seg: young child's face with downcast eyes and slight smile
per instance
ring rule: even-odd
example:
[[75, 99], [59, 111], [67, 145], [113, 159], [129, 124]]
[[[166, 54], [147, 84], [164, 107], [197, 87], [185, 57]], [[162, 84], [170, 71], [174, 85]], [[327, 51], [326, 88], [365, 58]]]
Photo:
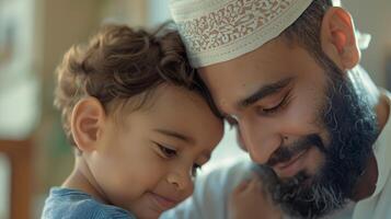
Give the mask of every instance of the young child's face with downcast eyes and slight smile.
[[158, 218], [193, 193], [192, 172], [209, 160], [222, 123], [194, 92], [158, 88], [149, 108], [106, 117], [88, 155], [103, 198], [139, 218]]

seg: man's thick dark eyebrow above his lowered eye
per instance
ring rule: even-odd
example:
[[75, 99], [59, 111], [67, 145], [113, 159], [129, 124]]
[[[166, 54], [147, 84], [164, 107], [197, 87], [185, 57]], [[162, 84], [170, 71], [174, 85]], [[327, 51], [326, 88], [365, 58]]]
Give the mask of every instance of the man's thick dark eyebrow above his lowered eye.
[[279, 80], [275, 83], [266, 84], [266, 85], [260, 88], [255, 93], [251, 94], [249, 97], [240, 101], [238, 103], [238, 106], [240, 108], [246, 107], [246, 106], [252, 105], [255, 102], [257, 102], [268, 95], [275, 94], [278, 91], [280, 91], [281, 89], [284, 89], [285, 87], [287, 87], [292, 80], [294, 80], [294, 78], [290, 77], [290, 78]]

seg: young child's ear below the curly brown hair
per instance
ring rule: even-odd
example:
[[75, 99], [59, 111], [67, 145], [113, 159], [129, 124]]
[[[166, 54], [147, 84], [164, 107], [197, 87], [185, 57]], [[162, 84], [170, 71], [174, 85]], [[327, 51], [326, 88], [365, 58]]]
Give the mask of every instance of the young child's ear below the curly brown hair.
[[101, 102], [94, 97], [79, 101], [71, 115], [71, 131], [74, 142], [81, 151], [92, 151], [101, 137], [105, 111]]

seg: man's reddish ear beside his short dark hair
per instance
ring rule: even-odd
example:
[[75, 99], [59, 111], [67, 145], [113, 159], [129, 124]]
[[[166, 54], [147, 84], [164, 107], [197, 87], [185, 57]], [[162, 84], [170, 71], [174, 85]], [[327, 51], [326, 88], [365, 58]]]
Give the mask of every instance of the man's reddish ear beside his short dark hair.
[[360, 59], [350, 14], [338, 7], [330, 8], [321, 27], [323, 51], [343, 70], [354, 68]]

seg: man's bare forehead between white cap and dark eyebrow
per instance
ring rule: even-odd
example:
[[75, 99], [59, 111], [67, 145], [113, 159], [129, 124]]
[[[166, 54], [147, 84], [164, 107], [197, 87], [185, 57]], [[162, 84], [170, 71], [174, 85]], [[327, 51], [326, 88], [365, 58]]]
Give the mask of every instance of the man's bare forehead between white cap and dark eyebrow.
[[294, 49], [286, 47], [284, 51], [280, 51], [276, 49], [277, 47], [269, 49], [265, 45], [235, 59], [199, 68], [198, 73], [211, 92], [218, 92], [221, 89], [222, 91], [257, 89], [291, 74], [296, 59], [302, 61], [301, 55]]

